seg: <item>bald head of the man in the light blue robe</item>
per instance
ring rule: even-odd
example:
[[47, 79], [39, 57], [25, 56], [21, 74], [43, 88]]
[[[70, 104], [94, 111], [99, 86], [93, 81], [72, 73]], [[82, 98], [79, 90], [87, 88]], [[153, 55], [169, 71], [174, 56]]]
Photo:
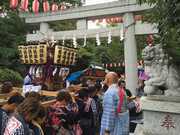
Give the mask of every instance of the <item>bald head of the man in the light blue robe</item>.
[[108, 86], [118, 83], [118, 75], [115, 72], [107, 73], [105, 76], [104, 83], [107, 84]]

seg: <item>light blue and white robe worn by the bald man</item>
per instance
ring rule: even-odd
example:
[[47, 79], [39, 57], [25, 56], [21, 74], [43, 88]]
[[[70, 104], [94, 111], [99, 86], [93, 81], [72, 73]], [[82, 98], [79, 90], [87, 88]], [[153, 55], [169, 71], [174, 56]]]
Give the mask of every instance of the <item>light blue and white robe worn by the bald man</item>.
[[[104, 135], [105, 130], [110, 131], [110, 135], [129, 134], [129, 112], [125, 111], [117, 114], [119, 102], [118, 91], [119, 87], [113, 84], [104, 94], [100, 135]], [[127, 107], [126, 98], [124, 99], [122, 108]]]

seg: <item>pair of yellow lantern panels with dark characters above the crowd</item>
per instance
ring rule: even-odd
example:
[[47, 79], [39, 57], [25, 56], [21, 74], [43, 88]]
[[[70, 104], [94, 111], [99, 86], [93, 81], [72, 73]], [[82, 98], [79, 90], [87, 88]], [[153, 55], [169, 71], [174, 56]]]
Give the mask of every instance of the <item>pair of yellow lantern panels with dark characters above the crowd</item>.
[[[54, 50], [53, 62], [60, 65], [75, 64], [77, 59], [77, 49], [65, 46], [58, 46], [51, 48]], [[23, 64], [46, 64], [48, 60], [48, 45], [28, 45], [18, 46], [19, 56]]]

